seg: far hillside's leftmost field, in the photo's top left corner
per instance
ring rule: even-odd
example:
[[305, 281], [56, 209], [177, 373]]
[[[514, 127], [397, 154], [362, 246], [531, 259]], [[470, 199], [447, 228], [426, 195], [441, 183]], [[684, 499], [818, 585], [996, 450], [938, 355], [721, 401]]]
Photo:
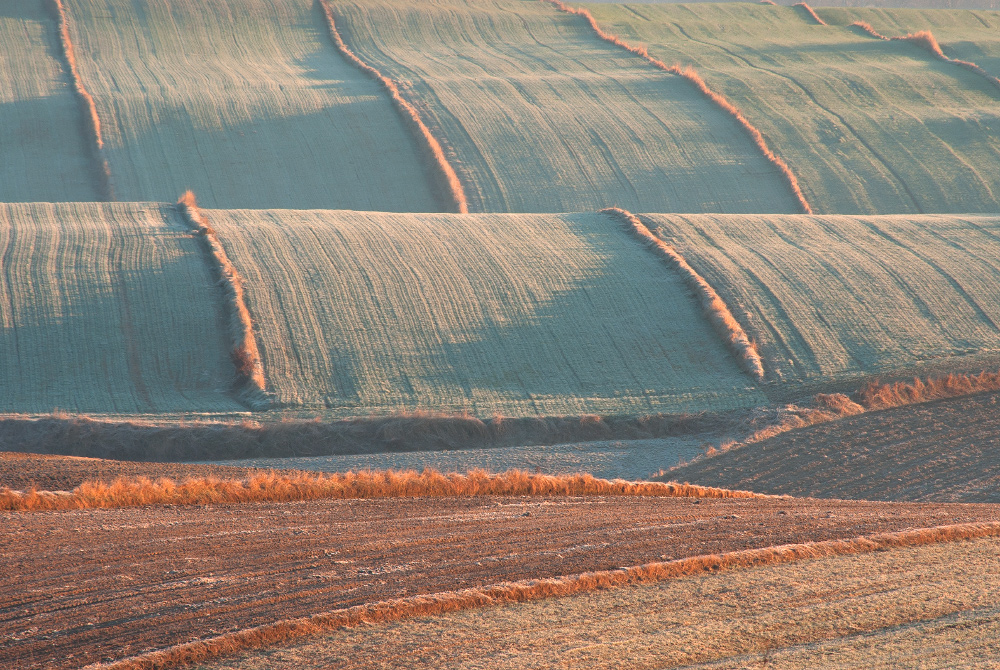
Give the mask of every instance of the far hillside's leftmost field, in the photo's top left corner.
[[0, 201], [98, 200], [91, 148], [44, 0], [0, 0]]

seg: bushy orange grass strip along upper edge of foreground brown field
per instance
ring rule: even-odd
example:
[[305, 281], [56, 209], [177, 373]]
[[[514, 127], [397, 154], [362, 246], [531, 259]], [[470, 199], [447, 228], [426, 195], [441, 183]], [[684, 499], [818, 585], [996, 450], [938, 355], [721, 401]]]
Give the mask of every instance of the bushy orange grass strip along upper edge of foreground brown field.
[[442, 474], [436, 470], [382, 470], [345, 473], [263, 473], [247, 479], [189, 478], [182, 481], [146, 477], [117, 479], [108, 484], [87, 481], [72, 491], [0, 489], [0, 510], [43, 511], [208, 505], [246, 502], [416, 496], [471, 497], [512, 495], [603, 495], [669, 498], [770, 498], [749, 491], [730, 491], [676, 482], [629, 482], [597, 479], [589, 474], [543, 475], [511, 470], [489, 474]]

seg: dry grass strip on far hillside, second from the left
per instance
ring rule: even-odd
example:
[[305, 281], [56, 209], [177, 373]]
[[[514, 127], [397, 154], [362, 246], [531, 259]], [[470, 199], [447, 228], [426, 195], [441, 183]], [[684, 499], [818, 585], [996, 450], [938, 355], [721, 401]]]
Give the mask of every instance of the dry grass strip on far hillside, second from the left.
[[424, 148], [428, 154], [428, 161], [433, 166], [435, 174], [439, 175], [438, 189], [442, 197], [449, 201], [447, 203], [448, 209], [459, 214], [468, 214], [469, 204], [465, 198], [465, 190], [462, 188], [462, 182], [459, 181], [455, 168], [451, 166], [448, 158], [444, 155], [441, 143], [438, 142], [437, 138], [431, 133], [430, 128], [427, 127], [427, 124], [420, 118], [417, 108], [402, 96], [396, 82], [361, 60], [357, 54], [351, 51], [350, 47], [347, 46], [344, 39], [340, 36], [340, 31], [337, 30], [337, 22], [329, 0], [319, 0], [319, 4], [323, 8], [323, 15], [326, 17], [327, 27], [330, 30], [330, 39], [333, 40], [334, 45], [340, 53], [352, 65], [382, 84], [382, 87], [389, 94], [392, 104], [399, 111], [403, 122], [423, 141]]

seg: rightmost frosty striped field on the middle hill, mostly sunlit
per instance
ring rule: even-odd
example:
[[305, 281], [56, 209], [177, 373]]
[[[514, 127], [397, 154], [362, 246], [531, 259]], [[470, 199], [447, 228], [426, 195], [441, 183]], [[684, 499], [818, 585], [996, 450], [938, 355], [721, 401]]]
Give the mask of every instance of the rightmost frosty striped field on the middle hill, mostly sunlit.
[[640, 218], [716, 288], [771, 378], [1000, 350], [998, 218]]

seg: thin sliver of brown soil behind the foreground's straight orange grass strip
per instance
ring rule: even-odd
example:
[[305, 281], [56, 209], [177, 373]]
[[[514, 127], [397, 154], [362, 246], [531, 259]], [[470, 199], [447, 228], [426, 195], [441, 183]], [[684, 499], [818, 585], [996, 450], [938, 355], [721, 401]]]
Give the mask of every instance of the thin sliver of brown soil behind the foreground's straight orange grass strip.
[[119, 477], [184, 479], [186, 477], [243, 478], [264, 472], [253, 468], [192, 463], [140, 463], [103, 458], [47, 456], [0, 451], [0, 488], [71, 491], [84, 481], [113, 482]]

